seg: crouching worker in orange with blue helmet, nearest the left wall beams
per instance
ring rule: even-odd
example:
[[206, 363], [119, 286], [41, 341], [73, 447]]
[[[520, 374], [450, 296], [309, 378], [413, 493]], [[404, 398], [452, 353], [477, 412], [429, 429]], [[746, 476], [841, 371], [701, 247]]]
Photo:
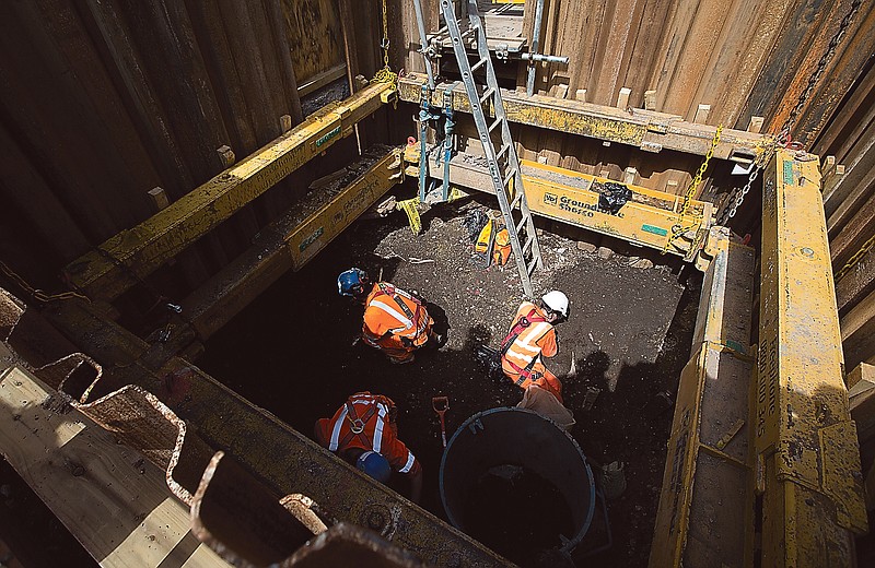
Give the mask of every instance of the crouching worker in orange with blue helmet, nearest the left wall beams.
[[364, 304], [362, 340], [381, 350], [392, 363], [412, 363], [413, 351], [430, 340], [438, 346], [442, 338], [433, 330], [434, 320], [417, 296], [388, 282], [371, 284], [361, 269], [349, 269], [337, 277], [337, 291]]

